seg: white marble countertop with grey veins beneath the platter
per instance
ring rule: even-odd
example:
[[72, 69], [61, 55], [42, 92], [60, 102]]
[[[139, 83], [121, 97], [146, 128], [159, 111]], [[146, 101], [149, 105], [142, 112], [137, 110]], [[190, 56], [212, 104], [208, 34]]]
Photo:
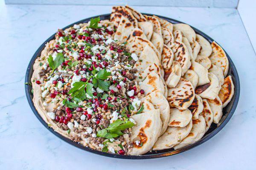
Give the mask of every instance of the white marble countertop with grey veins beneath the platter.
[[0, 169], [254, 169], [256, 56], [236, 9], [136, 7], [186, 22], [221, 44], [239, 73], [241, 96], [230, 122], [200, 146], [175, 156], [122, 160], [87, 153], [58, 139], [35, 117], [24, 76], [36, 49], [58, 28], [111, 6], [2, 5], [0, 8]]

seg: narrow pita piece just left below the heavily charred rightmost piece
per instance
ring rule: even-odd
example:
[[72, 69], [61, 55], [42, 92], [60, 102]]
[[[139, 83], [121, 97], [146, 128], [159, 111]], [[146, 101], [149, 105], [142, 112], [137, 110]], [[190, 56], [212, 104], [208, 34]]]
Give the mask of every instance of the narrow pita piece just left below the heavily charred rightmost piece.
[[213, 114], [213, 122], [217, 124], [220, 121], [222, 116], [221, 99], [217, 96], [214, 100], [207, 99], [207, 102]]

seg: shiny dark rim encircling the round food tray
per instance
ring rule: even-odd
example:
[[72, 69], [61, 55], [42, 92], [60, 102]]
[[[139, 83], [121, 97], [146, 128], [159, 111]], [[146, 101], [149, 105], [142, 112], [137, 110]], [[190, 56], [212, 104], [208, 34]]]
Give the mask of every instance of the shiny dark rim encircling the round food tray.
[[[146, 14], [146, 13], [142, 13], [142, 14]], [[146, 14], [146, 15], [156, 15], [156, 14]], [[172, 18], [169, 18], [169, 17], [164, 17], [164, 16], [160, 16], [160, 15], [156, 15], [157, 17], [160, 17], [160, 18], [163, 18], [165, 20], [168, 20], [169, 22], [171, 23], [183, 23], [183, 22], [180, 22], [178, 20], [175, 20], [175, 19], [172, 19]], [[101, 15], [97, 15], [97, 16], [93, 16], [93, 17], [88, 17], [86, 19], [83, 19], [83, 20], [79, 20], [75, 23], [72, 23], [66, 27], [63, 28], [66, 29], [66, 28], [69, 28], [70, 26], [73, 26], [74, 24], [79, 24], [79, 23], [83, 23], [85, 21], [89, 21], [91, 18], [95, 18], [95, 17], [101, 17], [101, 20], [102, 20], [102, 17], [110, 17], [110, 14], [101, 14]], [[188, 24], [189, 25], [189, 24]], [[190, 26], [190, 25], [189, 25]], [[194, 28], [193, 26], [191, 26], [191, 28], [193, 28], [195, 30], [195, 32], [197, 34], [200, 34], [202, 35], [204, 38], [206, 38], [209, 42], [213, 42], [214, 40], [209, 37], [207, 34], [205, 34], [204, 32], [198, 30], [197, 28]], [[211, 139], [213, 136], [215, 136], [221, 129], [223, 129], [223, 127], [227, 124], [227, 122], [229, 122], [229, 120], [231, 119], [231, 117], [233, 116], [235, 110], [236, 110], [236, 107], [238, 105], [238, 102], [239, 102], [239, 95], [240, 95], [240, 81], [239, 81], [239, 75], [237, 73], [237, 70], [236, 70], [236, 67], [233, 63], [233, 61], [231, 60], [231, 58], [229, 57], [229, 55], [227, 54], [227, 52], [225, 51], [226, 55], [227, 55], [227, 58], [229, 60], [229, 73], [230, 73], [230, 70], [232, 69], [233, 71], [233, 79], [235, 79], [234, 82], [234, 86], [235, 86], [235, 93], [234, 93], [234, 96], [233, 96], [233, 105], [231, 106], [231, 109], [230, 109], [230, 112], [229, 113], [226, 113], [226, 118], [224, 119], [224, 121], [218, 126], [216, 127], [211, 133], [208, 133], [207, 135], [203, 136], [202, 139], [198, 140], [197, 142], [193, 143], [193, 144], [189, 144], [187, 145], [186, 147], [183, 147], [183, 148], [180, 148], [178, 150], [170, 150], [170, 151], [166, 151], [164, 153], [155, 153], [155, 154], [148, 154], [148, 155], [138, 155], [138, 156], [130, 156], [130, 155], [118, 155], [118, 154], [111, 154], [111, 153], [105, 153], [105, 152], [101, 152], [101, 151], [98, 151], [98, 150], [93, 150], [93, 149], [90, 149], [89, 147], [84, 147], [76, 142], [73, 142], [72, 140], [62, 136], [61, 134], [55, 132], [52, 128], [48, 127], [48, 124], [46, 122], [44, 122], [44, 120], [42, 119], [42, 117], [39, 115], [38, 111], [36, 110], [33, 102], [32, 102], [32, 95], [30, 93], [30, 85], [27, 84], [26, 82], [30, 82], [30, 79], [31, 79], [31, 75], [32, 75], [32, 72], [33, 72], [33, 69], [32, 69], [32, 66], [35, 62], [35, 59], [41, 54], [41, 51], [44, 49], [44, 46], [47, 42], [49, 42], [50, 40], [52, 40], [54, 38], [55, 34], [53, 34], [52, 36], [50, 36], [47, 40], [45, 40], [43, 42], [42, 45], [40, 45], [40, 47], [35, 51], [35, 54], [33, 55], [33, 57], [31, 58], [30, 62], [29, 62], [29, 65], [27, 67], [27, 70], [26, 70], [26, 76], [25, 76], [25, 92], [26, 92], [26, 98], [29, 102], [29, 106], [30, 108], [32, 109], [33, 113], [35, 114], [35, 116], [38, 118], [38, 120], [45, 126], [47, 127], [47, 129], [53, 133], [55, 136], [57, 136], [58, 138], [64, 140], [65, 142], [67, 142], [68, 144], [71, 144], [75, 147], [78, 147], [82, 150], [85, 150], [87, 152], [90, 152], [90, 153], [95, 153], [95, 154], [98, 154], [98, 155], [101, 155], [101, 156], [107, 156], [107, 157], [112, 157], [112, 158], [119, 158], [119, 159], [154, 159], [154, 158], [160, 158], [160, 157], [166, 157], [166, 156], [171, 156], [171, 155], [175, 155], [175, 154], [178, 154], [178, 153], [183, 153], [187, 150], [190, 150], [194, 147], [197, 147], [199, 146], [200, 144], [203, 144], [204, 142], [208, 141], [209, 139]], [[221, 45], [220, 45], [221, 46]], [[221, 47], [222, 48], [222, 47]], [[224, 49], [224, 48], [223, 48]]]

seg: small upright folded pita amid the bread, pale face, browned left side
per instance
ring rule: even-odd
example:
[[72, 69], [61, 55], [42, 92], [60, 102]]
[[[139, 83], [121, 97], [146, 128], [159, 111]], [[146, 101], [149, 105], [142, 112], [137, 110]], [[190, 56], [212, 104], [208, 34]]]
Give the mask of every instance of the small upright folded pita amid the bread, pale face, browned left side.
[[164, 70], [164, 80], [167, 87], [175, 88], [175, 86], [180, 81], [181, 71], [180, 63], [177, 61], [173, 61], [171, 68]]

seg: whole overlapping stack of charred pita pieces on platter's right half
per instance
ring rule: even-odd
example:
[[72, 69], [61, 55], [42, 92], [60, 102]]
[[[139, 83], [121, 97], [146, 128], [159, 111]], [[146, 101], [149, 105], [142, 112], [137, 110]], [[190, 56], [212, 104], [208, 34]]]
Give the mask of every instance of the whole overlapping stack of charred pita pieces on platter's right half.
[[[114, 38], [126, 42], [139, 60], [137, 82], [145, 90], [143, 113], [131, 116], [134, 147], [128, 154], [179, 149], [197, 142], [218, 124], [232, 99], [234, 85], [227, 76], [224, 50], [186, 24], [172, 24], [129, 6], [112, 8]], [[143, 145], [136, 145], [140, 140]]]

